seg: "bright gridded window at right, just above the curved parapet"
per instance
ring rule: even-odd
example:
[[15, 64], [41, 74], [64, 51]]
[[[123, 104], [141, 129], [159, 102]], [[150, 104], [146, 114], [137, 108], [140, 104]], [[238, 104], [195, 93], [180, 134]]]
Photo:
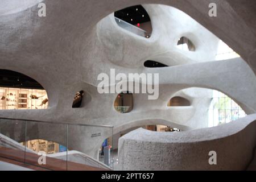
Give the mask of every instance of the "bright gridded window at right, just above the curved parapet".
[[235, 101], [217, 90], [212, 91], [212, 101], [208, 114], [208, 127], [229, 123], [246, 115], [245, 111]]

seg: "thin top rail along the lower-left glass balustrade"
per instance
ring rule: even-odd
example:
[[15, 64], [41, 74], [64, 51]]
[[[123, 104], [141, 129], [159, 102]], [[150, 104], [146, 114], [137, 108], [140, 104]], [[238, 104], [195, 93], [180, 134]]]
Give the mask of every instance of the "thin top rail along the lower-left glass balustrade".
[[32, 120], [32, 119], [18, 119], [18, 118], [2, 118], [2, 117], [0, 117], [0, 119], [9, 119], [9, 120], [13, 120], [13, 121], [15, 120], [15, 121], [40, 122], [40, 123], [48, 123], [48, 124], [61, 124], [61, 125], [95, 126], [95, 127], [110, 127], [110, 128], [114, 127], [112, 125], [92, 125], [92, 124], [82, 124], [82, 123], [65, 123], [65, 122], [40, 121], [40, 120]]

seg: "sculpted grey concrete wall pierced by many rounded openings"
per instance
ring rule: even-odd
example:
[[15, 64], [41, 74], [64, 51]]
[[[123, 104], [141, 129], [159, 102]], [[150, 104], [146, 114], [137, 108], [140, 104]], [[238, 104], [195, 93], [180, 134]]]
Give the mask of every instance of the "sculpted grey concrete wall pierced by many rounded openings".
[[[113, 125], [114, 133], [144, 124], [197, 129], [207, 126], [210, 93], [193, 87], [220, 90], [247, 114], [255, 113], [256, 32], [251, 23], [254, 1], [241, 2], [241, 9], [237, 0], [46, 0], [42, 2], [46, 3], [47, 16], [42, 18], [37, 16], [36, 2], [19, 1], [18, 9], [14, 0], [0, 2], [0, 68], [24, 73], [42, 84], [49, 109], [1, 110], [1, 117]], [[210, 2], [217, 3], [216, 18], [208, 16]], [[115, 23], [115, 10], [137, 4], [142, 4], [150, 15], [150, 39], [127, 32]], [[192, 40], [195, 52], [176, 48], [181, 36]], [[218, 38], [242, 58], [213, 61]], [[148, 59], [170, 67], [144, 68]], [[118, 113], [113, 107], [117, 94], [97, 92], [98, 73], [109, 74], [110, 68], [115, 68], [116, 73], [159, 73], [159, 99], [147, 100], [146, 94], [134, 94], [133, 111]], [[184, 90], [188, 88], [191, 90]], [[87, 93], [88, 99], [81, 108], [72, 109], [73, 97], [80, 90]], [[192, 105], [167, 107], [171, 97], [180, 95]], [[64, 145], [67, 142], [65, 128], [57, 125], [33, 124], [28, 131], [31, 139], [49, 139]], [[69, 142], [71, 150], [96, 159], [101, 143], [112, 135], [110, 130], [89, 127], [73, 127], [69, 132], [73, 137]], [[90, 138], [98, 132], [101, 137]], [[22, 140], [22, 135], [19, 137]]]

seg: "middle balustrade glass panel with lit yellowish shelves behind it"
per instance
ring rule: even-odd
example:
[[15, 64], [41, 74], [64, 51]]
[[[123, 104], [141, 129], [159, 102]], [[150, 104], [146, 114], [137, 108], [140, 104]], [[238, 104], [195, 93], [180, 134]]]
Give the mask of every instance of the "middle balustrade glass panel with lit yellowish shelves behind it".
[[61, 146], [67, 147], [67, 125], [27, 121], [26, 163], [67, 170], [67, 152]]

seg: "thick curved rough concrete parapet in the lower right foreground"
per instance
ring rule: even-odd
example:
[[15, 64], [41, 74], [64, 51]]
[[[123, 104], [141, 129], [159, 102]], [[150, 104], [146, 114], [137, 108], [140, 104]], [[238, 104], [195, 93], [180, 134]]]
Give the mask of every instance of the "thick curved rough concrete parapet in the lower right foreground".
[[[256, 141], [256, 114], [216, 127], [179, 133], [137, 129], [118, 144], [122, 170], [242, 170]], [[210, 151], [217, 164], [209, 164]]]

